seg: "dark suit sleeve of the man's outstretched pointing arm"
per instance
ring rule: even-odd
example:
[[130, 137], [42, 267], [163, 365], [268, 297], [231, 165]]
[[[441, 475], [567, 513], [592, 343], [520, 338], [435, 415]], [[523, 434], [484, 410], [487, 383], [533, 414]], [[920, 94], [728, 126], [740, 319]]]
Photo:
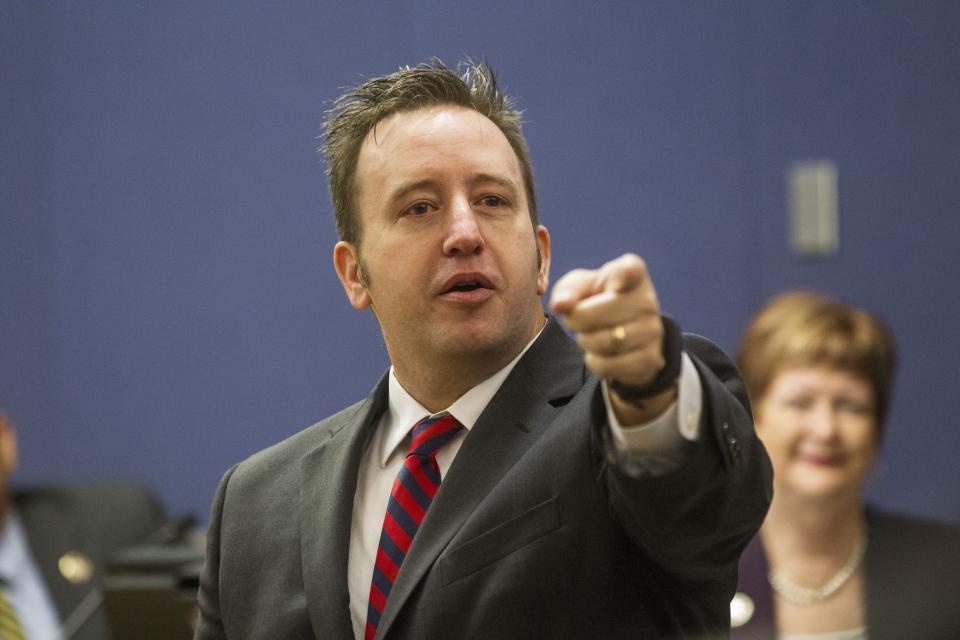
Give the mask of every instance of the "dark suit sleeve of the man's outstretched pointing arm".
[[732, 596], [740, 553], [772, 497], [772, 471], [733, 363], [704, 338], [687, 334], [684, 343], [703, 387], [700, 438], [685, 443], [677, 468], [653, 476], [616, 451], [604, 425], [602, 477], [614, 516], [665, 574]]

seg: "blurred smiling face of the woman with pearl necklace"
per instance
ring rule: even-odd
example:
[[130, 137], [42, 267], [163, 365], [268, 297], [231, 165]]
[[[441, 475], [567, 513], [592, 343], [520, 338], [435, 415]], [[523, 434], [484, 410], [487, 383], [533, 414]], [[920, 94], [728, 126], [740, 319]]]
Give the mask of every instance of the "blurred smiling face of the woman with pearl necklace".
[[781, 370], [756, 407], [774, 490], [797, 497], [860, 493], [877, 455], [873, 391], [830, 367]]

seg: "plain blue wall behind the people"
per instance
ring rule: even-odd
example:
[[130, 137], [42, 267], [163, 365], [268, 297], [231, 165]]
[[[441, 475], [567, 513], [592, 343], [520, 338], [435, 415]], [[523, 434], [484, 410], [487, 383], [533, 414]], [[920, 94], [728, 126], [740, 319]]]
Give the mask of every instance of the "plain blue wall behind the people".
[[[732, 350], [811, 286], [903, 351], [879, 503], [960, 520], [960, 5], [5, 2], [0, 406], [21, 482], [135, 476], [205, 518], [223, 470], [387, 365], [346, 303], [315, 153], [365, 76], [484, 56], [527, 110], [554, 279], [632, 250]], [[787, 249], [833, 158], [841, 251]]]

